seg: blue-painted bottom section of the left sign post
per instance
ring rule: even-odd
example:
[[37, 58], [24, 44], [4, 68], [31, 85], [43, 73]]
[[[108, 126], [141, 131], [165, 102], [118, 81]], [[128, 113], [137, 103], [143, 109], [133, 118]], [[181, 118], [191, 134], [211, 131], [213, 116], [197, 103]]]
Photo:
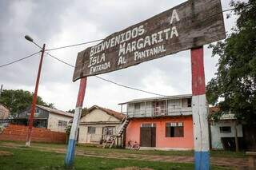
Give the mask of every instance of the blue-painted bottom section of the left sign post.
[[75, 151], [75, 140], [70, 139], [67, 146], [65, 166], [71, 168], [74, 164], [74, 151]]

